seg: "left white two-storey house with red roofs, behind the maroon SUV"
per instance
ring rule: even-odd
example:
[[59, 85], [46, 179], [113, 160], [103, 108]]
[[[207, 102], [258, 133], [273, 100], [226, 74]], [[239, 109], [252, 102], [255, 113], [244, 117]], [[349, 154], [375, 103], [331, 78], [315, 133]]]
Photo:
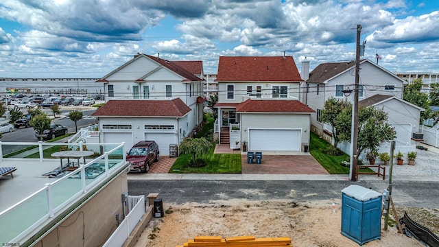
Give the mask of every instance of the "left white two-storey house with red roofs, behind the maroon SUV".
[[[125, 141], [128, 151], [132, 144], [147, 138], [159, 144], [161, 154], [169, 154], [170, 144], [180, 144], [202, 124], [204, 80], [198, 74], [203, 75], [202, 61], [174, 62], [137, 54], [97, 80], [104, 84], [108, 107], [127, 109], [104, 107], [93, 114], [99, 118], [100, 141]], [[128, 109], [128, 104], [139, 107]], [[185, 110], [172, 110], [183, 106]]]

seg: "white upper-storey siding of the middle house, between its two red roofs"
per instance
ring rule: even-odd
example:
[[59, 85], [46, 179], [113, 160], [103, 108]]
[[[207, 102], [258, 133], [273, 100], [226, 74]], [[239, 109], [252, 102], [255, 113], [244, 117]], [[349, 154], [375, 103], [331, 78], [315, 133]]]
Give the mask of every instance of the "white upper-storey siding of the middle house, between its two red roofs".
[[[227, 99], [227, 85], [235, 85], [235, 99]], [[261, 86], [261, 98], [272, 98], [272, 86], [288, 86], [289, 96], [299, 97], [298, 82], [286, 83], [286, 82], [221, 82], [218, 84], [218, 102], [221, 103], [241, 103], [248, 99], [247, 86], [253, 86], [253, 90], [256, 90], [256, 86]]]

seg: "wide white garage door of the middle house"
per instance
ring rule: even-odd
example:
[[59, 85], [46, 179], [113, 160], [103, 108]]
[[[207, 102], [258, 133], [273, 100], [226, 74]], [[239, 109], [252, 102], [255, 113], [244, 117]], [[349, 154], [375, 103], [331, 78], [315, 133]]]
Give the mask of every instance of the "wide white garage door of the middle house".
[[250, 151], [300, 151], [300, 130], [250, 130]]

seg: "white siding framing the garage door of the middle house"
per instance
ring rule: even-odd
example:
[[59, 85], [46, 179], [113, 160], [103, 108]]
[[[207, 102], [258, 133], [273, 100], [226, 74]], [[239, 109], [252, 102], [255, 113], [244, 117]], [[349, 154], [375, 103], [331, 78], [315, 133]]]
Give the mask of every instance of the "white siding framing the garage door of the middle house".
[[249, 129], [300, 130], [300, 144], [309, 145], [309, 114], [241, 113], [241, 143], [249, 141]]

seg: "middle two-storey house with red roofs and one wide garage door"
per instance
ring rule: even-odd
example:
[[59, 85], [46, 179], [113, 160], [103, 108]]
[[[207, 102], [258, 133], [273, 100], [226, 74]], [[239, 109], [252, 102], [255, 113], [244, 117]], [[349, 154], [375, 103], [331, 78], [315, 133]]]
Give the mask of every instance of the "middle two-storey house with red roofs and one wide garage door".
[[246, 151], [302, 151], [311, 108], [298, 100], [302, 79], [291, 56], [219, 57], [215, 134]]

